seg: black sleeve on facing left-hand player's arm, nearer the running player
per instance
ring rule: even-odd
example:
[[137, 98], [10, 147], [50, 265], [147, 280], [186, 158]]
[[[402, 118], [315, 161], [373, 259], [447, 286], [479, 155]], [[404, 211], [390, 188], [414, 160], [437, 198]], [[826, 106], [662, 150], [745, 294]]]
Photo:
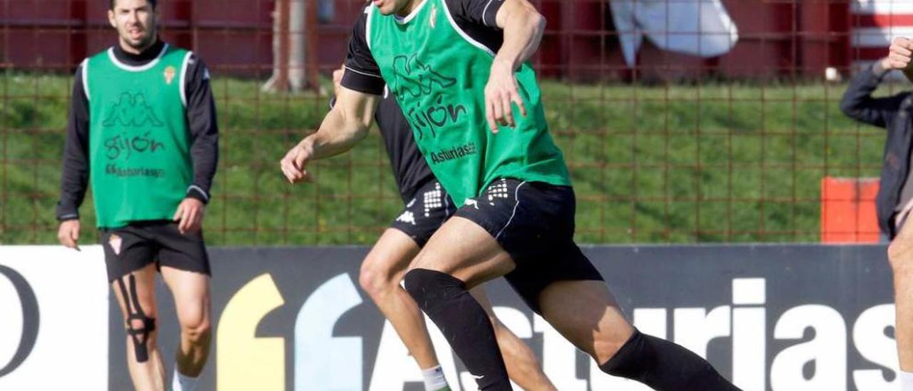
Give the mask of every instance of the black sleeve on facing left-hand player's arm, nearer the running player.
[[209, 69], [195, 55], [188, 59], [184, 88], [187, 97], [187, 124], [190, 130], [190, 155], [194, 162], [194, 183], [187, 196], [209, 202], [215, 168], [219, 160], [219, 125], [215, 100], [209, 85]]

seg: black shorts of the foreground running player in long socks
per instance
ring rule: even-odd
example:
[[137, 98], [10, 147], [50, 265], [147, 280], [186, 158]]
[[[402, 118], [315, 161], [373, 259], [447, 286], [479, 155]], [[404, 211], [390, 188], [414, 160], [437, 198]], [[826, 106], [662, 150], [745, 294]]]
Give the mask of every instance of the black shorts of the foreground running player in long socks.
[[456, 211], [485, 228], [517, 268], [504, 276], [532, 311], [552, 282], [603, 280], [573, 241], [573, 188], [498, 179]]

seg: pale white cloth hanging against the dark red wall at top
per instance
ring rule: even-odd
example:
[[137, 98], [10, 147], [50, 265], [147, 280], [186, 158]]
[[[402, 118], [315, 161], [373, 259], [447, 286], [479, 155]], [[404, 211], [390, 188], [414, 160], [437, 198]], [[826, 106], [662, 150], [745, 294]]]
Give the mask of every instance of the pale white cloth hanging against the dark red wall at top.
[[729, 53], [739, 29], [719, 0], [613, 0], [624, 60], [634, 66], [644, 36], [659, 48], [704, 58]]

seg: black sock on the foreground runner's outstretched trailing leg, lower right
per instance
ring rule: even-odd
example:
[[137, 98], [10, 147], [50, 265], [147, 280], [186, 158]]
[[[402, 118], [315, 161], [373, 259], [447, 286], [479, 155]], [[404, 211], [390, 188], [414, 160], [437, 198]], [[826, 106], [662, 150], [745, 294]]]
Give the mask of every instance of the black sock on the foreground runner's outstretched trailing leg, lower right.
[[698, 354], [635, 330], [609, 361], [606, 374], [636, 380], [660, 391], [739, 390]]

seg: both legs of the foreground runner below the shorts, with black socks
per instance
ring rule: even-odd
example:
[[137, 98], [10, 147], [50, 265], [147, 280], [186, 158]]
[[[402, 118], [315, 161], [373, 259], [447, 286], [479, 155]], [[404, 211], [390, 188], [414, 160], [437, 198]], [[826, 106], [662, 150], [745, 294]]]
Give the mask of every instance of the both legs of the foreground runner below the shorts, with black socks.
[[[444, 333], [480, 389], [509, 390], [510, 384], [491, 322], [480, 321], [488, 315], [467, 287], [515, 268], [485, 229], [466, 218], [452, 217], [428, 241], [405, 276], [406, 290]], [[552, 283], [540, 292], [539, 301], [545, 319], [578, 348], [592, 352], [596, 359], [611, 357], [600, 363], [611, 375], [658, 390], [738, 389], [697, 354], [637, 333], [603, 282]], [[570, 308], [569, 301], [575, 303], [575, 312], [557, 308]]]

